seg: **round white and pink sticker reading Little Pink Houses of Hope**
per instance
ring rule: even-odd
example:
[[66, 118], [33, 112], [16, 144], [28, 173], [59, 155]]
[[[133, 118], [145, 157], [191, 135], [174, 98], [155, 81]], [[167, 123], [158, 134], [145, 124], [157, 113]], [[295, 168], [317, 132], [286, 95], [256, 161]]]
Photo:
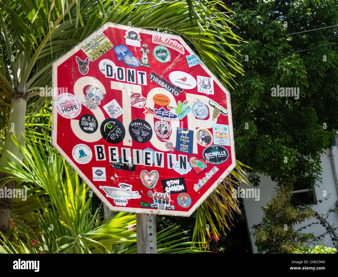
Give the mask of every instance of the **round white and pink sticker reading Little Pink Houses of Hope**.
[[59, 115], [64, 118], [77, 117], [81, 112], [81, 102], [74, 95], [70, 93], [61, 93], [56, 97], [54, 106]]

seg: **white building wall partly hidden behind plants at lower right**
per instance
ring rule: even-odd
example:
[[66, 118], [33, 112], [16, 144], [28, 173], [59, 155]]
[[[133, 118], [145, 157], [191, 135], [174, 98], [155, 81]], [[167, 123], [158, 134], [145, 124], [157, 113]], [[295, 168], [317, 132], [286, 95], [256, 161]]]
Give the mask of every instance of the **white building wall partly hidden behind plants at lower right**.
[[[337, 146], [334, 146], [332, 149], [333, 152], [333, 158], [335, 163], [335, 171], [336, 174], [338, 174], [338, 149]], [[319, 214], [326, 214], [329, 208], [336, 208], [337, 207], [337, 201], [338, 201], [338, 188], [337, 183], [335, 181], [335, 175], [334, 170], [332, 166], [331, 161], [331, 152], [328, 148], [326, 150], [326, 153], [322, 155], [321, 157], [321, 166], [322, 166], [322, 183], [318, 183], [315, 186], [315, 193], [317, 198], [317, 204], [313, 205], [313, 209], [317, 211]], [[255, 224], [259, 224], [263, 217], [263, 211], [261, 209], [262, 206], [265, 206], [269, 199], [271, 199], [274, 188], [276, 183], [272, 182], [271, 179], [267, 176], [260, 176], [260, 185], [256, 188], [260, 189], [260, 200], [255, 201], [254, 198], [245, 198], [243, 199], [244, 203], [244, 209], [247, 219], [247, 224], [250, 232], [250, 240], [252, 245], [253, 253], [257, 253], [257, 247], [255, 246], [255, 238], [252, 236], [253, 229], [252, 226]], [[246, 185], [242, 184], [243, 188], [248, 188]], [[250, 188], [253, 188], [252, 185], [250, 185]], [[323, 191], [327, 191], [327, 195], [330, 195], [328, 200], [324, 200], [325, 197], [323, 197]], [[319, 203], [318, 200], [324, 200], [322, 203]], [[312, 222], [315, 222], [316, 219], [312, 218], [312, 220], [305, 221], [304, 223], [298, 225], [299, 227], [303, 227], [307, 224], [310, 224]], [[335, 227], [338, 227], [338, 212], [331, 213], [328, 221], [331, 225], [335, 224]], [[326, 230], [323, 226], [320, 224], [313, 224], [311, 227], [307, 227], [306, 229], [303, 229], [302, 232], [307, 233], [314, 233], [315, 236], [320, 235], [324, 233]], [[324, 239], [322, 239], [322, 243], [324, 246], [327, 247], [333, 247], [333, 243], [329, 236], [326, 236]]]

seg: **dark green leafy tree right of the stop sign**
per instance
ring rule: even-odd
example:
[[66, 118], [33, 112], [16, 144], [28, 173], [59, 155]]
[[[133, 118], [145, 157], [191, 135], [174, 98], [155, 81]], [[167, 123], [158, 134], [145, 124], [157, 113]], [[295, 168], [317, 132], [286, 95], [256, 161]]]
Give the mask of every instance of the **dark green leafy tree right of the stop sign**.
[[[233, 3], [245, 74], [232, 92], [237, 158], [252, 172], [279, 180], [309, 174], [320, 180], [320, 156], [338, 130], [337, 0]], [[334, 45], [326, 46], [334, 43]], [[321, 47], [325, 46], [325, 47]], [[321, 48], [319, 48], [321, 47]], [[290, 54], [294, 51], [303, 51]], [[272, 88], [299, 88], [272, 97]], [[250, 179], [258, 184], [257, 176]]]

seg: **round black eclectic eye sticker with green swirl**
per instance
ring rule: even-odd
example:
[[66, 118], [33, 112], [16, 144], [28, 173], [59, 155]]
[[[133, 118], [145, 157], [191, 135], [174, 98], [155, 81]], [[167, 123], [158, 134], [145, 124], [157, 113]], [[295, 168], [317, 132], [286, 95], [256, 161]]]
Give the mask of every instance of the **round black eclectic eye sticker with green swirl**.
[[119, 143], [124, 139], [125, 129], [116, 118], [107, 118], [101, 123], [101, 135], [110, 143]]

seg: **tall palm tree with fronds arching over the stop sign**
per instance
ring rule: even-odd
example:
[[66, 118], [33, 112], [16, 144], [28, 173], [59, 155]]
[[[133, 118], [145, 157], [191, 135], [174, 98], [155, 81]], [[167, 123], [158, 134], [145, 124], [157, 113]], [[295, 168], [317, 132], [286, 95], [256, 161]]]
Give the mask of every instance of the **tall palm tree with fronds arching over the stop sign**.
[[[221, 9], [221, 10], [220, 10]], [[230, 86], [240, 64], [231, 55], [241, 41], [221, 1], [192, 0], [2, 0], [0, 3], [0, 134], [5, 138], [0, 167], [12, 153], [22, 161], [15, 135], [24, 145], [26, 109], [39, 111], [50, 97], [53, 61], [106, 22], [178, 34], [201, 60]], [[0, 172], [8, 188], [15, 181]], [[6, 232], [11, 199], [0, 199], [0, 231]]]

